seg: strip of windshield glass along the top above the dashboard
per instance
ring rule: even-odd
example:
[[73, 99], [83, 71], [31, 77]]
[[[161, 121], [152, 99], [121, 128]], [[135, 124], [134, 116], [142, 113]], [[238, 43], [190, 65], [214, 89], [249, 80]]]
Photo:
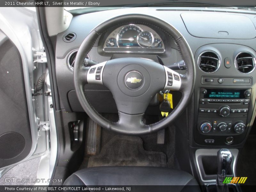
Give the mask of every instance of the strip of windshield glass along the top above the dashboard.
[[72, 14], [83, 14], [131, 7], [211, 7], [247, 11], [256, 10], [256, 4], [254, 0], [110, 0], [102, 2], [85, 2], [84, 4], [80, 4], [79, 7], [65, 7], [65, 9]]

